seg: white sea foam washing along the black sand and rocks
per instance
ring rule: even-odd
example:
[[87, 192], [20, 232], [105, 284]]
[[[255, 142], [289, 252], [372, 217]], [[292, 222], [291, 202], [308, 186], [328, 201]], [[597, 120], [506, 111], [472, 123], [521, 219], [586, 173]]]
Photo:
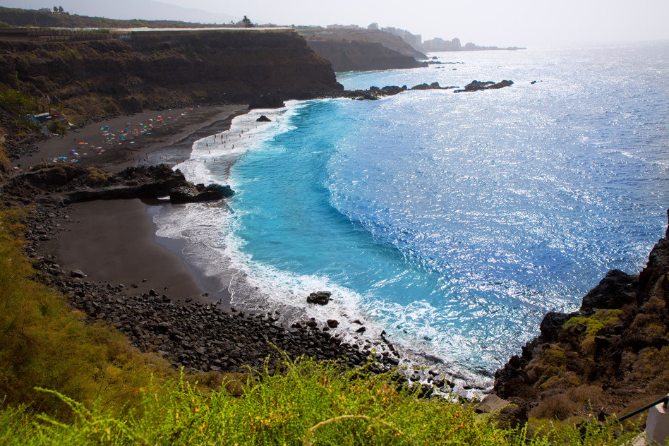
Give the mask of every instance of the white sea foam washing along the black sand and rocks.
[[[299, 113], [303, 104], [305, 102], [291, 101], [286, 109], [259, 109], [237, 116], [229, 131], [196, 141], [191, 158], [175, 169], [181, 169], [189, 181], [224, 181], [234, 188], [234, 176], [222, 166], [230, 166], [248, 150], [289, 131], [291, 116]], [[271, 122], [257, 122], [261, 115], [267, 116]], [[195, 265], [204, 277], [215, 279], [219, 290], [227, 289], [231, 293], [231, 305], [236, 308], [260, 312], [276, 310], [280, 313], [280, 322], [287, 326], [296, 320], [313, 319], [320, 326], [327, 325], [327, 320], [337, 320], [339, 325], [331, 329], [333, 334], [361, 349], [375, 349], [379, 354], [387, 351], [385, 343], [380, 342], [385, 334], [402, 356], [400, 366], [423, 364], [435, 367], [436, 358], [439, 358], [438, 362], [452, 362], [446, 351], [435, 349], [434, 343], [414, 336], [419, 332], [426, 337], [439, 337], [434, 327], [414, 327], [415, 321], [435, 313], [435, 308], [423, 306], [423, 303], [406, 308], [382, 301], [365, 303], [363, 296], [328, 277], [296, 275], [255, 262], [243, 253], [243, 241], [235, 235], [237, 217], [226, 203], [193, 203], [165, 208], [155, 216], [155, 223], [158, 236], [186, 241], [183, 255], [188, 263]], [[332, 293], [332, 301], [327, 306], [306, 303], [308, 294], [321, 290]], [[389, 311], [401, 315], [400, 320], [409, 328], [410, 335], [394, 336], [384, 332], [383, 325], [376, 320], [383, 320], [382, 314]], [[361, 326], [366, 328], [363, 334], [356, 332]], [[464, 337], [461, 341], [462, 345], [466, 344]], [[461, 388], [464, 380], [479, 388], [490, 385], [490, 380], [481, 375], [448, 368], [445, 364], [438, 368], [451, 377], [459, 377], [455, 380]], [[471, 396], [476, 390], [462, 392]]]

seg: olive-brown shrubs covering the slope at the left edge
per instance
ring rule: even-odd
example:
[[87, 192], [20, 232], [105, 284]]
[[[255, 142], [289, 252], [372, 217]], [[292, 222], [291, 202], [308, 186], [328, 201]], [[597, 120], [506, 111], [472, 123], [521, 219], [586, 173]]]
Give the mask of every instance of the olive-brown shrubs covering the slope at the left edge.
[[0, 401], [62, 411], [52, 395], [34, 390], [38, 386], [120, 408], [152, 380], [174, 376], [162, 358], [140, 354], [109, 327], [86, 325], [64, 296], [32, 279], [20, 251], [22, 218], [16, 210], [0, 212]]

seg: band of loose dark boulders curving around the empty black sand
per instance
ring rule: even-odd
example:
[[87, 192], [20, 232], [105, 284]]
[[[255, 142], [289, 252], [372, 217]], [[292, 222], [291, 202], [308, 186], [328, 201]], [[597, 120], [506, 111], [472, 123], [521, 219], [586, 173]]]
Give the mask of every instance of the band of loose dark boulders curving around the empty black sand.
[[[169, 289], [157, 285], [148, 292], [133, 292], [138, 284], [92, 282], [85, 271], [63, 265], [49, 241], [54, 241], [74, 205], [40, 203], [26, 219], [25, 252], [49, 287], [61, 291], [68, 303], [92, 322], [102, 322], [123, 332], [143, 351], [155, 351], [174, 366], [193, 371], [239, 373], [273, 370], [285, 354], [294, 359], [310, 356], [317, 361], [342, 365], [367, 365], [373, 373], [395, 369], [399, 357], [390, 342], [375, 342], [361, 349], [348, 344], [331, 327], [313, 320], [279, 325], [279, 313], [244, 313], [223, 309], [217, 302], [179, 301]], [[143, 288], [151, 286], [142, 284]], [[455, 384], [450, 375], [415, 368], [398, 370], [397, 382], [429, 382], [423, 394], [448, 392]], [[434, 387], [433, 387], [434, 386]]]

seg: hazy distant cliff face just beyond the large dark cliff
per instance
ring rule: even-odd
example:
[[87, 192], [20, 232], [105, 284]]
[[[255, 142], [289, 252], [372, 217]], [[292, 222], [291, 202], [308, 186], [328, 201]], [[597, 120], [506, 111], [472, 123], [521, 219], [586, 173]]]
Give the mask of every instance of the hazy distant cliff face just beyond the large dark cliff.
[[423, 66], [412, 56], [387, 49], [380, 43], [354, 40], [308, 40], [318, 56], [332, 64], [335, 71], [390, 70]]

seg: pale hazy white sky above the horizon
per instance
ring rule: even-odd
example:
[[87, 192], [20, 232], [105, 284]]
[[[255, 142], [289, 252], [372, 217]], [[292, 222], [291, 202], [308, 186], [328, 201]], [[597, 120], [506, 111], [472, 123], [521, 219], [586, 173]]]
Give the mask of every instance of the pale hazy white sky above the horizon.
[[[0, 6], [50, 8], [57, 2], [71, 13], [183, 20], [183, 11], [164, 5], [171, 4], [201, 10], [203, 20], [219, 23], [244, 15], [254, 23], [277, 25], [366, 27], [376, 22], [421, 34], [423, 40], [458, 37], [463, 44], [500, 47], [669, 40], [669, 0], [161, 0], [162, 5], [149, 0], [46, 1], [0, 0]], [[133, 11], [145, 17], [135, 17]]]

